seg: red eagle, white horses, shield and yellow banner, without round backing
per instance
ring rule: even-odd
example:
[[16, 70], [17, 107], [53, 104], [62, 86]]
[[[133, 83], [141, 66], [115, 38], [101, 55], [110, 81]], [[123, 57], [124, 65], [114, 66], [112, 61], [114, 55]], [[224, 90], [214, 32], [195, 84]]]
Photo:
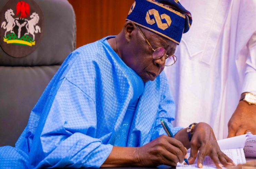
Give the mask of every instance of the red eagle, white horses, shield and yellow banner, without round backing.
[[[14, 18], [14, 15], [17, 18]], [[36, 12], [30, 15], [30, 6], [28, 3], [24, 1], [18, 2], [16, 5], [16, 14], [14, 14], [12, 9], [8, 9], [4, 17], [6, 21], [1, 23], [1, 28], [5, 30], [4, 42], [26, 46], [36, 44], [35, 33], [41, 33], [41, 28], [37, 25], [40, 18]]]

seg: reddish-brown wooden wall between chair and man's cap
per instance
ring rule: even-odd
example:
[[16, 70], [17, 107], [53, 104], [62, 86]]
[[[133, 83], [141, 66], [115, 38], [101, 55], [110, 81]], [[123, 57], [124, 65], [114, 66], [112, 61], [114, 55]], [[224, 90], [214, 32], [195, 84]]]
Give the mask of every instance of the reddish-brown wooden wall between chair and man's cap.
[[68, 0], [76, 13], [77, 47], [117, 35], [134, 0]]

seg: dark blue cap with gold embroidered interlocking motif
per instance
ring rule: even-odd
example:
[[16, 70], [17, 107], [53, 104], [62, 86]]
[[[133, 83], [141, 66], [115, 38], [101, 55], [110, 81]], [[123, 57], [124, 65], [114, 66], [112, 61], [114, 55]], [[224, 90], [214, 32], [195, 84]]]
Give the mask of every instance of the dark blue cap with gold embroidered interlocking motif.
[[[180, 12], [168, 7], [169, 4]], [[191, 13], [178, 0], [135, 0], [127, 19], [179, 44], [192, 24]]]

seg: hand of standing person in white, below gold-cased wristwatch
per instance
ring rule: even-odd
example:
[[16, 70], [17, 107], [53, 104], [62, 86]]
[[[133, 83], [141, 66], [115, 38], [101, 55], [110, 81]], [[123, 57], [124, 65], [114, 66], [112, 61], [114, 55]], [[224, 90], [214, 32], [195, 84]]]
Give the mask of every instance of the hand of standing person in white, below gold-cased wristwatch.
[[240, 101], [228, 122], [228, 138], [251, 132], [256, 134], [256, 105]]

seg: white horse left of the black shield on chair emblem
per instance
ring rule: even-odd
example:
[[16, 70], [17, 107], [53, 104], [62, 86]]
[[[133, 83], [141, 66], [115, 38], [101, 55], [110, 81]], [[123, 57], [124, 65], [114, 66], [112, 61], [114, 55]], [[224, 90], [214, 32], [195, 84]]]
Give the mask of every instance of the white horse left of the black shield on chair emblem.
[[12, 18], [12, 16], [14, 15], [13, 10], [12, 9], [8, 9], [5, 12], [5, 19], [7, 21], [7, 25], [6, 22], [3, 21], [1, 24], [1, 28], [6, 29], [5, 33], [4, 33], [4, 37], [6, 37], [6, 33], [11, 31], [11, 33], [13, 32], [13, 27], [15, 26], [15, 22], [14, 22], [14, 18]]

